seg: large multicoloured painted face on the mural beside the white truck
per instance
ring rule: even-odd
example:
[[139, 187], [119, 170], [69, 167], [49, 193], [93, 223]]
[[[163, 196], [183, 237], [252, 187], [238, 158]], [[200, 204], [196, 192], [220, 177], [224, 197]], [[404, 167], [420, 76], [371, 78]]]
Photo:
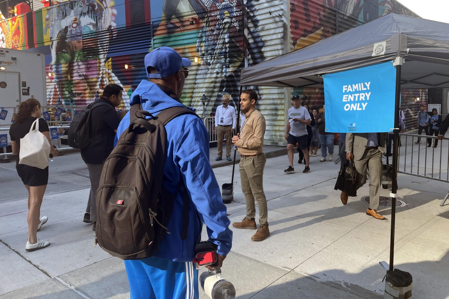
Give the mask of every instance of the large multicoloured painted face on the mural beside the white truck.
[[97, 100], [108, 83], [120, 83], [106, 59], [110, 36], [105, 40], [96, 34], [115, 26], [116, 11], [108, 9], [108, 3], [81, 0], [73, 7], [58, 5], [48, 12], [53, 20], [48, 26], [52, 49], [49, 78], [53, 82], [49, 104], [69, 104], [71, 98], [75, 105], [88, 104]]

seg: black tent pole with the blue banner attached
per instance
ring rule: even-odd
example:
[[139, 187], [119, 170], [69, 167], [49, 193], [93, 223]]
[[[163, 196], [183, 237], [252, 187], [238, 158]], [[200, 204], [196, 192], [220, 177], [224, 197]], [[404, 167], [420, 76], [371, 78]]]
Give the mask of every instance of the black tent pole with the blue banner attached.
[[[396, 58], [402, 60], [402, 58]], [[393, 262], [394, 262], [394, 231], [395, 231], [395, 222], [396, 222], [396, 192], [397, 192], [397, 162], [398, 162], [398, 145], [399, 145], [399, 101], [401, 97], [401, 67], [402, 65], [396, 65], [396, 99], [394, 105], [394, 126], [393, 130], [393, 175], [392, 175], [392, 226], [391, 226], [391, 235], [390, 235], [390, 271], [393, 271]]]

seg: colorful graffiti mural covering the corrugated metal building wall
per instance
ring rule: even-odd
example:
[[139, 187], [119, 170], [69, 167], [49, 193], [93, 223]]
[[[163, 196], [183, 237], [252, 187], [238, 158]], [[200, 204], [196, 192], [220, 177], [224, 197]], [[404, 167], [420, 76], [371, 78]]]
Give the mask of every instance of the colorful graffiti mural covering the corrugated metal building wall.
[[[125, 89], [120, 108], [146, 79], [143, 58], [170, 46], [192, 60], [181, 100], [209, 116], [222, 95], [238, 105], [240, 70], [302, 48], [389, 12], [411, 14], [394, 0], [77, 0], [0, 19], [0, 47], [46, 55], [48, 104], [84, 106], [108, 83]], [[247, 56], [244, 48], [247, 24]], [[290, 27], [290, 32], [286, 28]], [[290, 46], [288, 46], [290, 44]], [[257, 87], [269, 142], [283, 143], [284, 88]], [[202, 95], [207, 101], [203, 107]], [[309, 107], [322, 106], [322, 91], [294, 89]]]

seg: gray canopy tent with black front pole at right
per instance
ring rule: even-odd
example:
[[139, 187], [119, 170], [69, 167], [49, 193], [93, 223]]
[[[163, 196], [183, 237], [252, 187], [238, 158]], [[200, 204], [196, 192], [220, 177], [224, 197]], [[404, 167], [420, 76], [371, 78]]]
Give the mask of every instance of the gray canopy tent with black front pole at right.
[[[399, 123], [401, 89], [449, 87], [449, 24], [396, 13], [242, 69], [241, 86], [319, 87], [321, 75], [394, 61]], [[394, 130], [392, 202], [396, 201], [399, 129]], [[392, 204], [393, 270], [396, 204]]]

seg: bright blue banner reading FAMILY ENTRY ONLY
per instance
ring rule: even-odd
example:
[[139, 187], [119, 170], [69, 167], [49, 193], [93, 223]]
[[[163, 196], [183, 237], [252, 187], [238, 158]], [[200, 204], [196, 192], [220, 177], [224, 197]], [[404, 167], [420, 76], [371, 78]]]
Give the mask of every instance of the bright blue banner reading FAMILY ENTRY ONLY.
[[390, 132], [394, 126], [396, 68], [392, 62], [324, 76], [326, 132]]

